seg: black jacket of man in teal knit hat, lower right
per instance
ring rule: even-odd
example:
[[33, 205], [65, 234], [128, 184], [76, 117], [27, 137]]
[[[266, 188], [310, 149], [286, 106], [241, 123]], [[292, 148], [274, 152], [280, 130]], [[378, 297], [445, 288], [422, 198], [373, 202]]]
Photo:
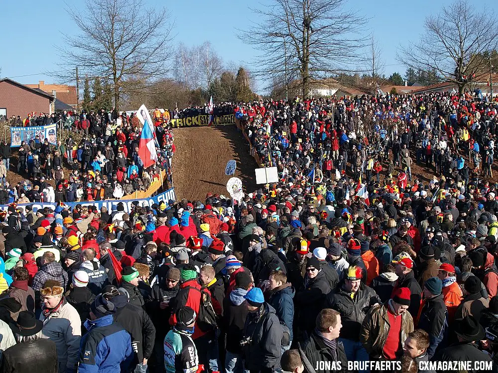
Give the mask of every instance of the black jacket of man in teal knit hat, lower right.
[[436, 353], [436, 349], [440, 350], [445, 347], [444, 344], [448, 340], [448, 311], [446, 310], [443, 294], [425, 299], [422, 304], [417, 327], [429, 334], [430, 344], [427, 355], [431, 359]]

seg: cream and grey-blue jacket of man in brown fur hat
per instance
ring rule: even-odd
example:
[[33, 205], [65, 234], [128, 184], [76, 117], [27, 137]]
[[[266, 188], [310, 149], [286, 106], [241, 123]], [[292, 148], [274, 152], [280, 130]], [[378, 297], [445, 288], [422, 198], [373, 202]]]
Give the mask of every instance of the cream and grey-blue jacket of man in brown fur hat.
[[81, 319], [76, 308], [64, 303], [57, 311], [40, 315], [43, 321], [43, 336], [51, 339], [57, 349], [59, 372], [65, 372], [66, 367], [76, 371], [80, 358]]

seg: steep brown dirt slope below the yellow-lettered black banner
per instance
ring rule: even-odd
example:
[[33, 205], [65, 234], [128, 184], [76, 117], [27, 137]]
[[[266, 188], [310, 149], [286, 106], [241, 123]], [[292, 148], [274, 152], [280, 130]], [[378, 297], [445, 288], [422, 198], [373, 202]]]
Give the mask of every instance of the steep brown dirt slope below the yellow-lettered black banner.
[[177, 199], [199, 199], [206, 194], [225, 194], [231, 176], [225, 167], [237, 161], [235, 176], [243, 182], [244, 191], [255, 188], [256, 162], [249, 155], [249, 144], [235, 125], [191, 127], [174, 130], [176, 152], [173, 157], [173, 183]]

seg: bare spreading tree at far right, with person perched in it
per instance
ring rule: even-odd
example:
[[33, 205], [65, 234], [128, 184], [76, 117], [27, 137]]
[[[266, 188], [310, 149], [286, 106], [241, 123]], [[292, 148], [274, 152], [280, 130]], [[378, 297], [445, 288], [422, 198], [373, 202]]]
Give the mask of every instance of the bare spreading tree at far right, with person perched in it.
[[485, 71], [483, 58], [498, 46], [498, 18], [491, 9], [478, 12], [466, 0], [457, 0], [425, 19], [420, 40], [400, 47], [398, 61], [415, 70], [435, 71], [462, 93], [475, 75]]

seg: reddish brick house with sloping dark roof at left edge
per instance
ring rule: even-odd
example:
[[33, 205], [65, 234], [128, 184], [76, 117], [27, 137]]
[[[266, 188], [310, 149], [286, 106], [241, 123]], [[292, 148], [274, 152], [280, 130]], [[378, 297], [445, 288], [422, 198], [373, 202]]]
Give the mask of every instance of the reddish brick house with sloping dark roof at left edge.
[[52, 113], [55, 97], [17, 83], [11, 79], [0, 80], [0, 115], [7, 118], [19, 115], [25, 118], [30, 112]]

